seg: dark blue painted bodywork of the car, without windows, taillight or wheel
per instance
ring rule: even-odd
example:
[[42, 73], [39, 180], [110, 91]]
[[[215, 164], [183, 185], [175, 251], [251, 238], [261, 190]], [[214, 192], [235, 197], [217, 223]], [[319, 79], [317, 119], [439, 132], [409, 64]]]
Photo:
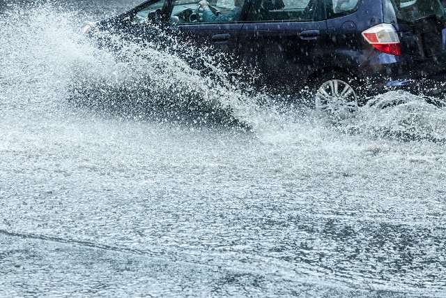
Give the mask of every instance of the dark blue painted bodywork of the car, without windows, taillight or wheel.
[[[170, 15], [172, 3], [178, 2], [165, 0], [161, 5], [151, 0], [100, 24], [104, 29], [119, 27], [116, 33], [153, 40], [159, 37], [153, 23], [131, 22], [141, 9], [153, 5], [160, 10], [155, 13], [162, 19], [159, 27], [168, 35], [176, 36], [185, 46], [213, 47], [227, 53], [236, 64], [256, 70], [259, 82], [272, 88], [302, 89], [313, 77], [333, 70], [357, 78], [369, 87], [369, 94], [420, 87], [426, 82], [435, 87], [436, 81], [446, 81], [446, 17], [438, 0], [314, 0], [312, 17], [304, 20], [283, 19], [287, 13], [303, 13], [288, 8], [268, 11], [279, 14], [279, 20], [262, 18], [261, 1], [245, 0], [237, 22], [178, 24]], [[346, 13], [335, 11], [334, 3], [343, 1], [351, 1], [355, 7]], [[198, 7], [192, 2], [187, 5], [184, 9], [192, 11]], [[420, 9], [420, 18], [410, 19], [411, 6]], [[401, 56], [380, 52], [362, 36], [364, 30], [383, 23], [391, 23], [397, 32]]]

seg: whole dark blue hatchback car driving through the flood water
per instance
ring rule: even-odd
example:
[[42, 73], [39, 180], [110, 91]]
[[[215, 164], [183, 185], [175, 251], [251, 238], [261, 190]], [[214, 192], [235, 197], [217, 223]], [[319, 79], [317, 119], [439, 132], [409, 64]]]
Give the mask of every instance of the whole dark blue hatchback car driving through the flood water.
[[266, 87], [306, 91], [323, 110], [392, 89], [443, 94], [446, 17], [439, 0], [149, 0], [86, 27], [213, 45]]

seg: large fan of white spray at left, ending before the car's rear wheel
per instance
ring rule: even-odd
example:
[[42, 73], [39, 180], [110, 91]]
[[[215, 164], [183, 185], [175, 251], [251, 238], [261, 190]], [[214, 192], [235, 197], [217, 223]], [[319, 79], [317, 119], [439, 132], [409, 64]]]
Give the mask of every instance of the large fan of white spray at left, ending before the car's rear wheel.
[[[84, 22], [79, 22], [77, 13], [35, 5], [7, 11], [2, 24], [6, 34], [0, 41], [8, 45], [1, 61], [8, 77], [2, 81], [11, 90], [28, 90], [18, 98], [44, 104], [70, 98], [89, 107], [119, 110], [125, 117], [187, 116], [197, 123], [215, 116], [229, 124], [256, 126], [256, 121], [249, 120], [256, 119], [251, 115], [261, 110], [256, 99], [243, 86], [229, 82], [228, 73], [213, 64], [215, 58], [206, 56], [203, 49], [199, 58], [207, 61], [213, 76], [191, 68], [171, 48], [109, 36], [121, 47], [116, 57], [82, 36]], [[190, 49], [186, 54], [196, 57], [197, 51]]]

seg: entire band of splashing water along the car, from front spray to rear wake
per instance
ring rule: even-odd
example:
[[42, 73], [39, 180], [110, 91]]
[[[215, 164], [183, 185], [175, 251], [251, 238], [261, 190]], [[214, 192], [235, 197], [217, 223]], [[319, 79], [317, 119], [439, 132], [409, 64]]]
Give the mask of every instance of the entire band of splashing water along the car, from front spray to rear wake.
[[[184, 50], [174, 38], [171, 47], [162, 48], [110, 34], [120, 48], [116, 54], [82, 36], [85, 16], [60, 6], [31, 3], [3, 15], [0, 42], [7, 46], [0, 49], [5, 70], [0, 79], [8, 89], [1, 98], [3, 107], [34, 103], [45, 108], [64, 105], [67, 100], [61, 98], [66, 98], [95, 112], [118, 112], [125, 119], [222, 121], [249, 127], [260, 136], [288, 129], [284, 140], [320, 128], [397, 141], [446, 140], [445, 110], [405, 92], [376, 96], [352, 117], [331, 119], [305, 105], [294, 107], [287, 95], [252, 91], [234, 79], [246, 70], [229, 73], [218, 62], [222, 57], [209, 49]], [[192, 68], [187, 59], [199, 60], [207, 71]]]

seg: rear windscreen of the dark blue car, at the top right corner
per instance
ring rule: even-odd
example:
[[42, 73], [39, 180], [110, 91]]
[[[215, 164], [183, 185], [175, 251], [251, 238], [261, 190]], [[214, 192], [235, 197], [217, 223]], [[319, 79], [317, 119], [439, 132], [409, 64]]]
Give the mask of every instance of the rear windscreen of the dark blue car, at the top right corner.
[[392, 0], [392, 4], [400, 24], [413, 24], [417, 20], [433, 16], [440, 20], [445, 15], [438, 0]]

